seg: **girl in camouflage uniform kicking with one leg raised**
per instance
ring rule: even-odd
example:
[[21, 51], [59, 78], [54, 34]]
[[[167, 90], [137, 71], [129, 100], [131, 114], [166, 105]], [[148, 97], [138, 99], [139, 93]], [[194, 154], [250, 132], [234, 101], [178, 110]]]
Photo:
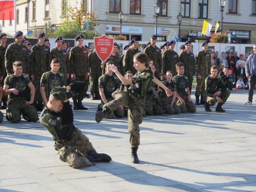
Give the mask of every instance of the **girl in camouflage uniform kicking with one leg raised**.
[[117, 77], [123, 82], [123, 84], [131, 86], [129, 88], [125, 87], [124, 91], [118, 90], [112, 93], [114, 100], [105, 104], [103, 106], [103, 111], [98, 111], [95, 114], [95, 120], [97, 123], [99, 123], [105, 115], [109, 114], [111, 111], [114, 111], [119, 107], [119, 105], [128, 107], [128, 131], [130, 133], [130, 144], [132, 148], [132, 162], [139, 163], [139, 158], [137, 155], [137, 150], [140, 144], [139, 124], [141, 124], [143, 120], [142, 109], [151, 80], [160, 87], [163, 87], [167, 96], [171, 96], [172, 92], [157, 78], [154, 78], [154, 75], [149, 67], [147, 54], [135, 54], [133, 57], [133, 62], [133, 66], [141, 73], [131, 79], [126, 79], [123, 77], [120, 72], [118, 72], [116, 66], [109, 65], [109, 68], [116, 73]]

